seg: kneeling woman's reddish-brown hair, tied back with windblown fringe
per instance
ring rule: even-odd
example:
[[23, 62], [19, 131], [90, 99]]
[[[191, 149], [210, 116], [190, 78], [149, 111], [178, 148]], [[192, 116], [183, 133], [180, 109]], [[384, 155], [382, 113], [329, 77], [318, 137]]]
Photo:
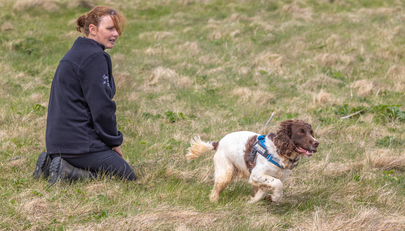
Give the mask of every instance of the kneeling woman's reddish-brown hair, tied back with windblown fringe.
[[110, 15], [111, 19], [113, 19], [115, 30], [117, 30], [118, 34], [121, 36], [121, 33], [124, 32], [126, 27], [126, 18], [121, 11], [117, 11], [111, 6], [96, 6], [91, 11], [86, 12], [86, 15], [80, 16], [76, 21], [78, 25], [76, 30], [82, 32], [81, 30], [83, 28], [83, 33], [85, 36], [88, 36], [90, 33], [90, 24], [98, 28], [100, 19], [105, 15]]

